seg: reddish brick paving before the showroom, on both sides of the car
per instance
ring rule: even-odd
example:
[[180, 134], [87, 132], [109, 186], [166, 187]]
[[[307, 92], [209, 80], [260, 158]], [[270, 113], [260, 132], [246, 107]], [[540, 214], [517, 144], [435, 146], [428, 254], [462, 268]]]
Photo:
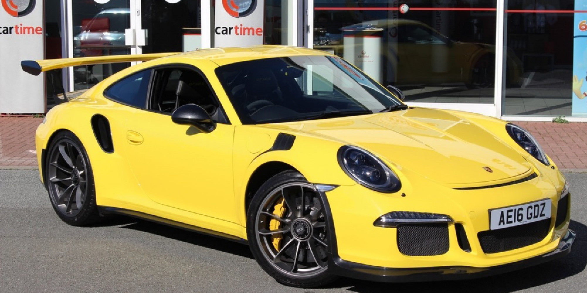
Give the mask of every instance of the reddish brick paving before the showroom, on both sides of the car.
[[[42, 118], [0, 116], [0, 168], [35, 167], [35, 130]], [[522, 122], [561, 169], [587, 171], [587, 123]]]

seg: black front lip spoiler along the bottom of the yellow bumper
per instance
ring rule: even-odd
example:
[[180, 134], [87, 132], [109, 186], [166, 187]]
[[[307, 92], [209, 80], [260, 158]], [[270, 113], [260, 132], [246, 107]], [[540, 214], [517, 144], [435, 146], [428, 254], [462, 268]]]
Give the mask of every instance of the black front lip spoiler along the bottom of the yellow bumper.
[[337, 255], [330, 255], [329, 267], [335, 274], [367, 281], [377, 282], [421, 282], [421, 281], [446, 281], [464, 280], [471, 278], [488, 277], [546, 263], [547, 261], [563, 257], [571, 252], [571, 246], [576, 234], [568, 230], [558, 244], [558, 247], [549, 253], [528, 258], [515, 263], [497, 265], [495, 267], [432, 267], [432, 268], [389, 268], [372, 265], [357, 264], [342, 260]]

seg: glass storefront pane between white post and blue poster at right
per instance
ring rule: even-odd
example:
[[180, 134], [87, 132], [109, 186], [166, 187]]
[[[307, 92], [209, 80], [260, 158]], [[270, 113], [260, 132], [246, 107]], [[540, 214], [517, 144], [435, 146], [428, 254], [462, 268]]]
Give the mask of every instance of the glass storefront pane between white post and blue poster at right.
[[574, 6], [573, 0], [505, 1], [504, 56], [518, 63], [504, 69], [518, 71], [520, 81], [504, 83], [504, 115], [572, 114]]

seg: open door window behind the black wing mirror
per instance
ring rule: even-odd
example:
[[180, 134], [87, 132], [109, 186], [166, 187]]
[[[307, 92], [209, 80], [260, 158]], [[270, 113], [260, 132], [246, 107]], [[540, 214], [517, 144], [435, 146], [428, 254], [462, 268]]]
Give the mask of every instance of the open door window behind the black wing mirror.
[[157, 70], [150, 109], [171, 114], [185, 104], [199, 105], [212, 120], [227, 121], [202, 74], [183, 68]]

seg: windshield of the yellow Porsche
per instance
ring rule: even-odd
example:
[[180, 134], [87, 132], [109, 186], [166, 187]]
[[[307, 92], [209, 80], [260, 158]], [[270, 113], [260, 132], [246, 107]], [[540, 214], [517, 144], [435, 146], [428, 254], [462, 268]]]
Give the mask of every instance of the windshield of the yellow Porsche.
[[338, 57], [251, 60], [218, 67], [216, 74], [243, 124], [364, 115], [402, 105]]

